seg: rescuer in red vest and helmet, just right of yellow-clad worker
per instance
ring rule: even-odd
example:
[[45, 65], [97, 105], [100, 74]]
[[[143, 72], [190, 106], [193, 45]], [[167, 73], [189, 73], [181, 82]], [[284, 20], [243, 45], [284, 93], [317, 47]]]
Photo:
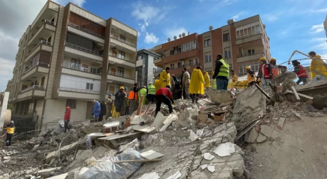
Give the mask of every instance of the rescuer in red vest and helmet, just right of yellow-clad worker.
[[267, 63], [265, 57], [261, 57], [259, 61], [261, 64], [259, 66], [259, 73], [256, 78], [260, 78], [262, 86], [268, 86], [273, 76], [271, 72], [271, 66]]

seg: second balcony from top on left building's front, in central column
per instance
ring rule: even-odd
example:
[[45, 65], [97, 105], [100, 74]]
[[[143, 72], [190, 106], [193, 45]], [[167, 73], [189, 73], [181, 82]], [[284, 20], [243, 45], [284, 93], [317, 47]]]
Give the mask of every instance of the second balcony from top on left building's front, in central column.
[[65, 55], [78, 59], [88, 59], [90, 61], [99, 61], [102, 63], [102, 53], [79, 47], [72, 43], [65, 42]]

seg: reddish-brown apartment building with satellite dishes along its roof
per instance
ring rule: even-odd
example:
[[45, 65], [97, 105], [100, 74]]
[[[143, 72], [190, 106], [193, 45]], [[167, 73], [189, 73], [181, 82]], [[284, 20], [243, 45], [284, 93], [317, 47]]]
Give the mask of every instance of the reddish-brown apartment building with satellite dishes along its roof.
[[246, 75], [246, 66], [259, 71], [260, 57], [271, 58], [265, 27], [260, 16], [255, 15], [240, 21], [228, 20], [227, 25], [218, 29], [211, 26], [200, 35], [179, 35], [180, 38], [154, 47], [155, 53], [161, 55], [154, 63], [163, 69], [170, 66], [170, 74], [177, 76], [182, 69], [192, 72], [197, 65], [213, 72], [217, 54], [222, 54], [238, 76]]

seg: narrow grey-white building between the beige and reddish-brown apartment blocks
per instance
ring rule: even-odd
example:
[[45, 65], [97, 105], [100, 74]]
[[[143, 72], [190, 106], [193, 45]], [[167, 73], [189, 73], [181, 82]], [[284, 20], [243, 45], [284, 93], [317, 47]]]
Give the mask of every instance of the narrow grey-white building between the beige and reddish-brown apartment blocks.
[[139, 86], [148, 86], [150, 83], [154, 83], [156, 76], [154, 74], [161, 70], [154, 65], [154, 60], [160, 56], [151, 49], [139, 49], [136, 55], [136, 81]]

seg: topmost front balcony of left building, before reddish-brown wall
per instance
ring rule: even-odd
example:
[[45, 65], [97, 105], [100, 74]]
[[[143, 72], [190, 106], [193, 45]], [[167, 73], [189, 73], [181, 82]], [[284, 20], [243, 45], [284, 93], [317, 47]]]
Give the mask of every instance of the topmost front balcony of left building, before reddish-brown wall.
[[77, 26], [76, 24], [73, 24], [70, 22], [68, 22], [67, 25], [68, 25], [69, 32], [72, 32], [74, 34], [83, 36], [87, 39], [102, 43], [102, 45], [104, 45], [104, 36], [103, 35], [100, 35], [98, 33], [90, 31], [88, 29], [82, 28], [82, 27]]

